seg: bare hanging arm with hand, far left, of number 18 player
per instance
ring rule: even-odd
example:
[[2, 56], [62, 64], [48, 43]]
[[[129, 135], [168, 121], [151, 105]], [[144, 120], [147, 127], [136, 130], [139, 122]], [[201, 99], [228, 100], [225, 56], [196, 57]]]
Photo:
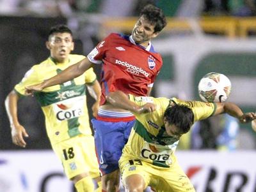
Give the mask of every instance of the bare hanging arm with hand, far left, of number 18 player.
[[17, 115], [17, 103], [19, 96], [15, 91], [8, 94], [5, 100], [5, 108], [10, 121], [12, 142], [20, 147], [26, 147], [24, 137], [28, 137], [26, 129], [20, 125]]

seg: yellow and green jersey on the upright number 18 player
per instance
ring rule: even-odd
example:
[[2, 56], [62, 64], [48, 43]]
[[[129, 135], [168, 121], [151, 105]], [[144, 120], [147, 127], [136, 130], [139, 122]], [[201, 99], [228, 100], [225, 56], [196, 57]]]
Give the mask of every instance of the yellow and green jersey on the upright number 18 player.
[[[15, 85], [15, 91], [20, 96], [24, 96], [26, 86], [41, 83], [82, 59], [84, 59], [83, 55], [70, 54], [67, 63], [56, 63], [49, 57], [42, 63], [34, 65], [21, 82]], [[84, 84], [91, 84], [95, 80], [96, 75], [90, 68], [73, 80], [35, 93], [36, 100], [39, 101], [44, 112], [47, 135], [52, 144], [79, 134], [92, 135]]]

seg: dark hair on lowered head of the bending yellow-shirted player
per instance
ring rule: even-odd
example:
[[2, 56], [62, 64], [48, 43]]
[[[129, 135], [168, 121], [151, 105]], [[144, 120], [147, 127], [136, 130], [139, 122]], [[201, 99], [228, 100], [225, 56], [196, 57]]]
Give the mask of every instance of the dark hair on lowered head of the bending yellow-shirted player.
[[192, 110], [185, 105], [168, 107], [164, 112], [164, 117], [169, 124], [174, 124], [181, 129], [182, 133], [187, 133], [194, 122]]

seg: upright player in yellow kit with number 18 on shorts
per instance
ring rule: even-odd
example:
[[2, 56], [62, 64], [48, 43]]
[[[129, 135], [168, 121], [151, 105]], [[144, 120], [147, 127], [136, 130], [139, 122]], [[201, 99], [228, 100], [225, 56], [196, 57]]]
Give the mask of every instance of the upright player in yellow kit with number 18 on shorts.
[[[17, 117], [17, 101], [24, 96], [25, 87], [51, 78], [84, 59], [83, 55], [70, 54], [74, 49], [72, 31], [64, 25], [52, 27], [46, 47], [51, 56], [34, 65], [6, 98], [13, 144], [20, 147], [26, 147], [24, 137], [28, 137]], [[35, 92], [45, 115], [52, 149], [61, 159], [65, 174], [74, 182], [77, 192], [94, 191], [92, 178], [98, 182], [97, 191], [101, 191], [99, 165], [86, 106], [86, 87], [96, 100], [93, 110], [97, 113], [100, 85], [92, 68], [61, 85]]]

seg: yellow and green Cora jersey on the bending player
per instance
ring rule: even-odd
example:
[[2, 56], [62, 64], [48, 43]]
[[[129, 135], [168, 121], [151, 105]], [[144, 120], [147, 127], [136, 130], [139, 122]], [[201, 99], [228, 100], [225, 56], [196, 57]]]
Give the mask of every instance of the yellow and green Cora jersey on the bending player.
[[[205, 119], [214, 114], [214, 103], [200, 101], [182, 101], [177, 98], [152, 98], [129, 95], [129, 100], [139, 106], [145, 103], [154, 103], [156, 111], [147, 114], [134, 114], [136, 122], [131, 135], [123, 149], [122, 157], [141, 159], [156, 166], [170, 167], [174, 158], [175, 149], [179, 139], [167, 135], [164, 128], [164, 112], [170, 102], [186, 105], [194, 114], [194, 122]], [[122, 159], [122, 158], [121, 158]]]

